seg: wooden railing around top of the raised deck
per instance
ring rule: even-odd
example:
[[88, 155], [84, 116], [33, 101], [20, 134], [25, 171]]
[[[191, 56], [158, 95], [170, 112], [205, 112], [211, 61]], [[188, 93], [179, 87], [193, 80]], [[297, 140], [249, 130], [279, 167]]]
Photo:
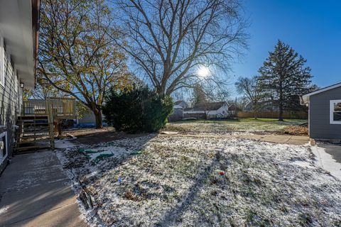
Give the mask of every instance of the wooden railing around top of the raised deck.
[[23, 101], [22, 115], [49, 115], [48, 107], [50, 107], [54, 118], [74, 118], [76, 115], [75, 99], [71, 98], [29, 99]]

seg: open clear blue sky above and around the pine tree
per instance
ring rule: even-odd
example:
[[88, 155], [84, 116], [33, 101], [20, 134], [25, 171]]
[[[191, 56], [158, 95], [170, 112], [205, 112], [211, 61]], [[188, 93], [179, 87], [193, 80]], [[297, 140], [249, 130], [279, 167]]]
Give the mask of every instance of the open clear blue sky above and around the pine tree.
[[251, 26], [249, 50], [232, 65], [232, 82], [251, 77], [278, 39], [301, 54], [320, 87], [341, 82], [341, 1], [244, 0]]

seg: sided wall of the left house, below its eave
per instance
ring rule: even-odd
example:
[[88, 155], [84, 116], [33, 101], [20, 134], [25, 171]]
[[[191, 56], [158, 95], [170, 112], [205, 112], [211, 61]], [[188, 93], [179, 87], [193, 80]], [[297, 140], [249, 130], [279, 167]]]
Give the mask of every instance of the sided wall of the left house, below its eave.
[[[6, 132], [7, 155], [0, 154], [0, 172], [6, 167], [7, 160], [13, 154], [13, 142], [16, 131], [16, 117], [21, 111], [22, 89], [18, 77], [13, 73], [9, 55], [4, 55], [4, 84], [0, 84], [0, 135]], [[2, 60], [0, 59], [0, 64]]]

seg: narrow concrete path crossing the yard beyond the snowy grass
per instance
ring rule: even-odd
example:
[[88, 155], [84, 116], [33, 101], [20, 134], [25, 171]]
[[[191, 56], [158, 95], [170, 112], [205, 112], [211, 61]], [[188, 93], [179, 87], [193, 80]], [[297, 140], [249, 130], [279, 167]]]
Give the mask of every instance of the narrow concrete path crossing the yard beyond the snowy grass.
[[182, 136], [196, 138], [240, 138], [247, 140], [257, 140], [271, 143], [283, 143], [292, 145], [305, 145], [309, 142], [308, 136], [301, 135], [256, 135], [256, 134], [240, 134], [240, 135], [212, 135], [212, 134], [175, 134], [172, 132], [163, 132], [161, 136]]

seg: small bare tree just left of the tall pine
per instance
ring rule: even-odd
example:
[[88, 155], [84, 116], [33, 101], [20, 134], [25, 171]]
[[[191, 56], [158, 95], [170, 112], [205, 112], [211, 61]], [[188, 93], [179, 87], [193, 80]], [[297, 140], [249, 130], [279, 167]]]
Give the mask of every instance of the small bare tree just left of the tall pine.
[[262, 98], [262, 92], [259, 87], [257, 77], [239, 77], [236, 82], [237, 92], [243, 94], [252, 104], [252, 111], [254, 112], [254, 118], [257, 118], [257, 111], [259, 111], [259, 101]]

